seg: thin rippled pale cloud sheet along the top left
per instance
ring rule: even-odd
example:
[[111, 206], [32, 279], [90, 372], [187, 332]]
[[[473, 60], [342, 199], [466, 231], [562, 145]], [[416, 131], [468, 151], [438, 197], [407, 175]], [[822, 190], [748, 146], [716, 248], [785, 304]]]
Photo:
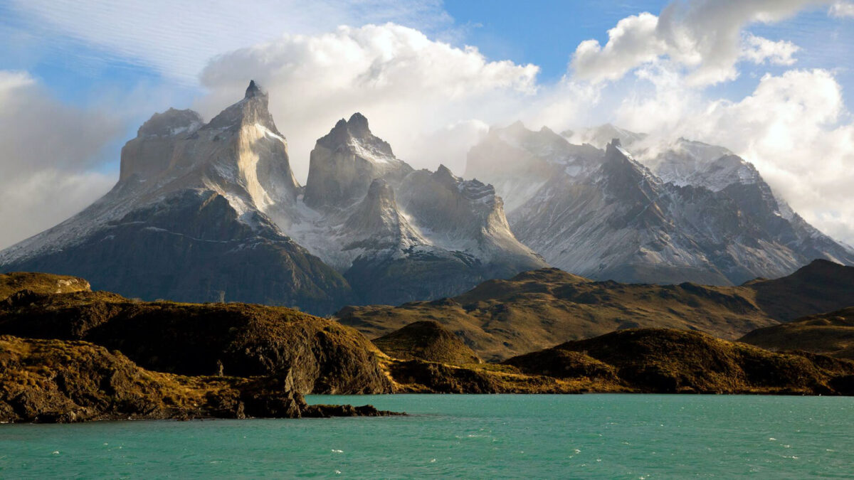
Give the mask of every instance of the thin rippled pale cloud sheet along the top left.
[[432, 29], [451, 22], [440, 0], [11, 0], [9, 9], [21, 30], [61, 37], [52, 43], [64, 45], [68, 56], [79, 56], [81, 44], [91, 45], [189, 85], [196, 84], [212, 56], [283, 32], [319, 33], [385, 21]]

